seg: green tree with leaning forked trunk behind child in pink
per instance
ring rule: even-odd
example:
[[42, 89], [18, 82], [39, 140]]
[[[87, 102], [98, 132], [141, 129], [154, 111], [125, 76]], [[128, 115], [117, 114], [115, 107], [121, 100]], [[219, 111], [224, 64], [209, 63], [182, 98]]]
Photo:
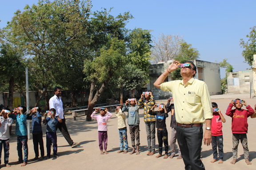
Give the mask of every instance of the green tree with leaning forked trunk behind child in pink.
[[[87, 120], [91, 120], [96, 101], [106, 89], [109, 80], [120, 72], [120, 66], [124, 66], [127, 61], [124, 40], [114, 38], [109, 41], [109, 46], [101, 48], [99, 57], [93, 61], [85, 60], [84, 73], [92, 82], [90, 95], [93, 96], [89, 104]], [[94, 87], [96, 87], [95, 95], [93, 95]]]

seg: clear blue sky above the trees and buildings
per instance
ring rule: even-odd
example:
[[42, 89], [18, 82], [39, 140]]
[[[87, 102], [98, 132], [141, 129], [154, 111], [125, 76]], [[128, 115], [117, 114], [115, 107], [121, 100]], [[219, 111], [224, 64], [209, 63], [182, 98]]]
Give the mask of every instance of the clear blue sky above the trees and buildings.
[[[17, 9], [37, 0], [2, 0], [0, 27], [5, 27]], [[234, 71], [246, 70], [240, 39], [246, 40], [256, 25], [256, 0], [92, 0], [92, 10], [113, 8], [111, 14], [130, 12], [127, 28], [152, 30], [154, 37], [184, 36], [200, 52], [200, 60], [220, 62], [224, 58]], [[221, 69], [221, 77], [225, 71]]]

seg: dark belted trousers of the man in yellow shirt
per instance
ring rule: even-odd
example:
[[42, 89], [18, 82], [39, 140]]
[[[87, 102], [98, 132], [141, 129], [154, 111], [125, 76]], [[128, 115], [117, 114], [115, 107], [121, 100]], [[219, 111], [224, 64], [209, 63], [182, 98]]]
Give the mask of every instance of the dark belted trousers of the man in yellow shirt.
[[203, 128], [176, 126], [176, 131], [185, 170], [205, 170], [204, 164], [200, 159]]

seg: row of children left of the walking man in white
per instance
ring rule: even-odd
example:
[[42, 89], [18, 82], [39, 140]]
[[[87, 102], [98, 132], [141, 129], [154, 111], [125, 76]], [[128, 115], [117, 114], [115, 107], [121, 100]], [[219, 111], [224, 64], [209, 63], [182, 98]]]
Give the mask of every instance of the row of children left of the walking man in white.
[[[13, 113], [11, 113], [9, 108], [3, 108], [0, 112], [0, 153], [4, 147], [4, 164], [9, 167], [8, 158], [9, 158], [9, 139], [10, 139], [10, 130], [9, 127], [12, 126], [14, 120], [16, 120], [16, 135], [17, 135], [17, 151], [18, 151], [18, 162], [21, 163], [21, 166], [26, 166], [28, 164], [28, 130], [27, 130], [27, 120], [32, 120], [32, 136], [33, 136], [33, 145], [35, 151], [35, 158], [43, 160], [44, 157], [44, 140], [43, 140], [43, 131], [42, 131], [42, 116], [40, 114], [41, 109], [39, 107], [32, 108], [28, 114], [24, 114], [27, 111], [26, 107], [20, 106], [14, 108]], [[50, 158], [51, 155], [51, 145], [53, 146], [53, 156], [57, 158], [57, 135], [56, 135], [56, 125], [58, 123], [57, 118], [55, 117], [56, 110], [51, 108], [50, 111], [44, 113], [43, 123], [47, 125], [46, 128], [46, 148], [47, 148], [47, 157]], [[40, 145], [40, 155], [39, 158], [39, 149]], [[22, 154], [22, 149], [24, 151], [24, 158]], [[0, 154], [0, 163], [1, 163], [1, 154]]]

